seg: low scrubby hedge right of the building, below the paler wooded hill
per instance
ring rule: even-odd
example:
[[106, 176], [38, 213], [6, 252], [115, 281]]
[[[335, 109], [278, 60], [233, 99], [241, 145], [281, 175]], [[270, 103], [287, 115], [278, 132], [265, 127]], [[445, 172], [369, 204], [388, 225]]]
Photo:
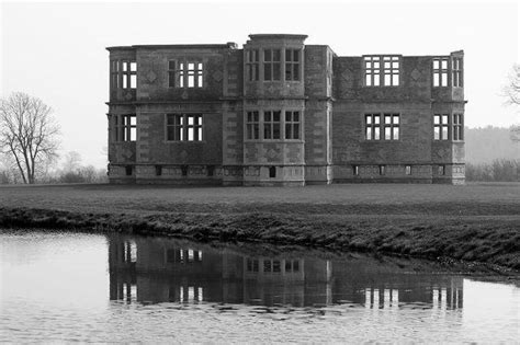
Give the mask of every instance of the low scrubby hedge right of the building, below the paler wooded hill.
[[496, 159], [491, 163], [466, 163], [466, 181], [520, 182], [520, 160]]

